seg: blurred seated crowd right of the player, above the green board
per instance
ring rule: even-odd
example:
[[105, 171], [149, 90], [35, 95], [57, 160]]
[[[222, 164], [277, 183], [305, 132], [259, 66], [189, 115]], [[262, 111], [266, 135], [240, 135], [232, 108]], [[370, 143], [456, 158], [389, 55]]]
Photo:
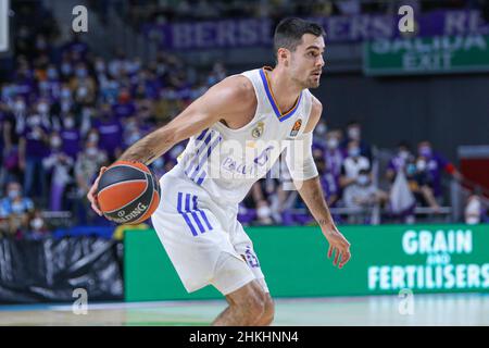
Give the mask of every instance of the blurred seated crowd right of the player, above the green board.
[[[346, 129], [328, 129], [326, 123], [319, 122], [314, 133], [313, 157], [326, 201], [338, 223], [414, 223], [418, 208], [431, 216], [446, 213], [442, 208], [450, 202], [444, 176], [463, 181], [456, 167], [427, 140], [415, 148], [401, 141], [380, 170], [380, 161], [363, 138], [359, 122], [351, 121]], [[240, 207], [242, 222], [314, 223], [298, 191], [287, 188], [287, 171], [283, 169], [280, 173], [286, 173], [280, 181], [266, 177], [254, 185]], [[477, 196], [471, 200], [476, 203], [467, 207], [473, 207], [477, 221], [484, 222], [487, 217], [480, 200]]]

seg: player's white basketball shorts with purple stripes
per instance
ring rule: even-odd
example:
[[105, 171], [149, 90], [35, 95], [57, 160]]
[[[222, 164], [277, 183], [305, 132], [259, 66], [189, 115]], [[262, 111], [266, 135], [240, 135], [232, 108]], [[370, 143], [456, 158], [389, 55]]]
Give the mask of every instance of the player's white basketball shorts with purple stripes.
[[256, 279], [268, 288], [253, 244], [237, 220], [238, 207], [178, 175], [160, 179], [161, 201], [151, 216], [154, 229], [188, 293], [213, 285], [228, 295]]

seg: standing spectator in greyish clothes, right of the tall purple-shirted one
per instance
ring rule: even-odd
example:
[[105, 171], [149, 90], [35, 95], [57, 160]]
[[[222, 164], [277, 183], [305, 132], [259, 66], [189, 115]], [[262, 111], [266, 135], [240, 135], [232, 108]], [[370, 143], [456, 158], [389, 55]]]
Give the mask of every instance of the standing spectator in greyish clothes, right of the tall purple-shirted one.
[[43, 159], [45, 170], [51, 174], [49, 208], [51, 211], [63, 210], [63, 196], [72, 182], [70, 175], [74, 161], [62, 150], [62, 139], [58, 133], [51, 134], [51, 154]]

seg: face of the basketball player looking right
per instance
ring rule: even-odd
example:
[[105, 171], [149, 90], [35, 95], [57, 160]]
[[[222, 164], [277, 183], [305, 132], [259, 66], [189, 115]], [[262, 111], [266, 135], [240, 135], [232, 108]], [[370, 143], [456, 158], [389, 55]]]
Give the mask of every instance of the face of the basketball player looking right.
[[291, 76], [303, 88], [319, 86], [324, 66], [324, 38], [312, 34], [302, 36], [302, 44], [291, 54]]

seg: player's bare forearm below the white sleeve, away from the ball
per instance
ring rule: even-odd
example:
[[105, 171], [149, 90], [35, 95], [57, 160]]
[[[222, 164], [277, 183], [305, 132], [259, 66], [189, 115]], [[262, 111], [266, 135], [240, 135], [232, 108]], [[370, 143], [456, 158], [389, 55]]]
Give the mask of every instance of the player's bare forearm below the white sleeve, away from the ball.
[[319, 224], [323, 233], [336, 231], [335, 222], [333, 221], [329, 208], [324, 198], [319, 177], [315, 176], [302, 182], [302, 185], [299, 188], [299, 194], [301, 195], [314, 219]]

